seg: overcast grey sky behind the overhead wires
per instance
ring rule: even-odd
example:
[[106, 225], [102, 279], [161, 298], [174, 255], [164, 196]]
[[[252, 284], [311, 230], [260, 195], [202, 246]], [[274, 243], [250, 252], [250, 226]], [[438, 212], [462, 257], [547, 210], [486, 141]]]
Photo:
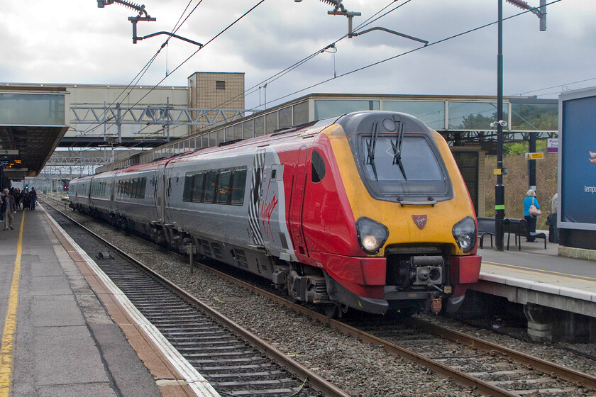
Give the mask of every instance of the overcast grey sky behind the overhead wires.
[[[139, 22], [138, 35], [172, 31], [179, 18], [197, 6], [177, 34], [207, 43], [259, 1], [202, 0], [197, 6], [199, 0], [145, 0], [145, 9], [157, 21]], [[538, 6], [539, 0], [528, 3]], [[187, 77], [197, 71], [245, 72], [245, 87], [250, 89], [336, 43], [335, 55], [322, 52], [268, 82], [268, 106], [313, 92], [496, 95], [496, 23], [437, 42], [495, 22], [497, 0], [344, 0], [343, 4], [348, 11], [362, 13], [354, 18], [355, 28], [382, 9], [382, 13], [394, 9], [366, 28], [396, 30], [431, 45], [416, 50], [420, 43], [381, 31], [340, 40], [348, 32], [347, 18], [327, 15], [332, 9], [327, 2], [265, 0], [189, 60], [198, 47], [172, 38], [138, 84], [158, 84], [166, 71], [169, 75], [161, 83], [165, 86], [186, 86]], [[505, 18], [522, 12], [505, 1], [503, 9]], [[539, 31], [539, 20], [532, 13], [504, 22], [505, 95], [556, 98], [566, 89], [596, 86], [596, 1], [561, 0], [549, 5], [547, 13], [546, 32]], [[100, 9], [95, 0], [2, 1], [0, 82], [133, 82], [167, 37], [133, 44], [129, 16], [136, 12], [120, 4]], [[332, 79], [334, 73], [341, 76], [390, 57], [395, 58]], [[328, 79], [332, 80], [296, 93]], [[246, 97], [246, 107], [259, 106], [264, 98], [264, 91], [256, 89]]]

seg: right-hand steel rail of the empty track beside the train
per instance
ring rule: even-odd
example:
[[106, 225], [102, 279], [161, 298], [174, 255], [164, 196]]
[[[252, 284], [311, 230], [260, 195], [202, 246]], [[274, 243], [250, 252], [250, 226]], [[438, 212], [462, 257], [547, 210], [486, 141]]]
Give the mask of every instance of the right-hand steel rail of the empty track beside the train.
[[[158, 279], [160, 282], [165, 284], [168, 288], [175, 291], [175, 293], [182, 296], [182, 298], [189, 301], [189, 303], [192, 303], [192, 305], [197, 306], [200, 310], [206, 312], [209, 316], [214, 318], [214, 320], [216, 320], [220, 325], [222, 325], [225, 328], [228, 328], [229, 330], [231, 330], [231, 332], [235, 333], [239, 337], [242, 337], [243, 340], [250, 342], [250, 344], [253, 345], [255, 348], [257, 348], [261, 353], [267, 355], [267, 357], [269, 359], [277, 362], [277, 364], [279, 364], [280, 366], [285, 367], [285, 369], [287, 369], [287, 371], [298, 376], [298, 378], [301, 381], [308, 382], [308, 384], [311, 386], [311, 388], [313, 388], [315, 391], [324, 393], [324, 396], [329, 396], [329, 397], [351, 397], [348, 393], [342, 391], [341, 388], [334, 386], [333, 384], [331, 384], [328, 381], [326, 381], [325, 379], [323, 379], [321, 376], [315, 374], [314, 372], [310, 371], [306, 367], [302, 366], [302, 364], [299, 364], [298, 362], [295, 362], [293, 359], [287, 357], [286, 354], [284, 354], [280, 350], [277, 350], [275, 347], [273, 347], [272, 345], [265, 342], [265, 340], [262, 340], [262, 339], [260, 339], [260, 337], [251, 334], [250, 332], [248, 332], [248, 330], [245, 330], [240, 325], [234, 323], [232, 320], [227, 318], [225, 315], [219, 313], [219, 311], [216, 311], [214, 308], [211, 308], [210, 306], [207, 306], [202, 301], [199, 301], [199, 299], [192, 296], [192, 294], [190, 294], [189, 292], [185, 291], [184, 289], [180, 288], [176, 284], [172, 283], [172, 281], [161, 276], [159, 273], [154, 272], [153, 269], [150, 269], [149, 267], [145, 266], [145, 264], [139, 262], [138, 259], [131, 257], [131, 255], [128, 255], [126, 252], [124, 252], [120, 248], [111, 244], [111, 242], [108, 242], [101, 236], [96, 235], [96, 233], [93, 233], [92, 230], [89, 230], [89, 228], [86, 228], [84, 225], [82, 225], [82, 224], [78, 223], [76, 220], [70, 218], [70, 216], [67, 216], [67, 214], [63, 213], [62, 211], [60, 211], [57, 208], [55, 208], [55, 211], [62, 214], [62, 216], [65, 216], [65, 218], [70, 220], [72, 223], [75, 223], [75, 225], [77, 225], [79, 228], [82, 228], [87, 233], [89, 233], [89, 234], [93, 235], [94, 237], [96, 237], [97, 239], [101, 240], [102, 243], [108, 245], [112, 250], [118, 252], [118, 254], [122, 255], [123, 257], [130, 260], [131, 262], [134, 262], [135, 264], [137, 264], [138, 267], [140, 267], [145, 272], [148, 272], [148, 274], [150, 274], [151, 276]], [[146, 241], [146, 240], [144, 240], [144, 241]], [[209, 269], [209, 268], [207, 268], [207, 269]]]

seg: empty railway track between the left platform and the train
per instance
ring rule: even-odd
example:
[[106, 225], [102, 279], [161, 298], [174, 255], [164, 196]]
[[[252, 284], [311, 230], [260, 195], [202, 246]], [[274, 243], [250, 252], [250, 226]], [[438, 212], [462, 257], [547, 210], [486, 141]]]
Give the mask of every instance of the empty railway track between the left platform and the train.
[[218, 393], [349, 397], [64, 213], [46, 211]]

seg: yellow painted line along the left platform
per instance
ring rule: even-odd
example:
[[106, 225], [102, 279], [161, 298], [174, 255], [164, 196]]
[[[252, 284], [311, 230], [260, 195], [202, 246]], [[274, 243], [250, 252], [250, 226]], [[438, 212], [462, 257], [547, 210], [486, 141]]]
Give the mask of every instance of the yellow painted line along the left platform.
[[21, 276], [21, 253], [23, 252], [23, 226], [25, 225], [25, 211], [22, 212], [21, 228], [18, 231], [16, 245], [16, 259], [9, 296], [9, 310], [4, 321], [4, 333], [0, 347], [0, 397], [9, 397], [11, 391], [11, 372], [13, 361], [13, 341], [16, 330], [16, 303], [18, 301], [18, 279]]

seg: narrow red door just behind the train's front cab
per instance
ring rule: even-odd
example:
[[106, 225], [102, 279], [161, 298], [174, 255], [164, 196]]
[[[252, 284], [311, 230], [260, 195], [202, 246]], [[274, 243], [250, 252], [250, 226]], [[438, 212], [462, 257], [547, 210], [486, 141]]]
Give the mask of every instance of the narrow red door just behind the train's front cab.
[[306, 255], [304, 233], [302, 230], [302, 206], [304, 203], [304, 188], [307, 181], [307, 145], [300, 147], [296, 175], [292, 183], [292, 204], [289, 208], [289, 230], [292, 235], [294, 247], [299, 255]]

